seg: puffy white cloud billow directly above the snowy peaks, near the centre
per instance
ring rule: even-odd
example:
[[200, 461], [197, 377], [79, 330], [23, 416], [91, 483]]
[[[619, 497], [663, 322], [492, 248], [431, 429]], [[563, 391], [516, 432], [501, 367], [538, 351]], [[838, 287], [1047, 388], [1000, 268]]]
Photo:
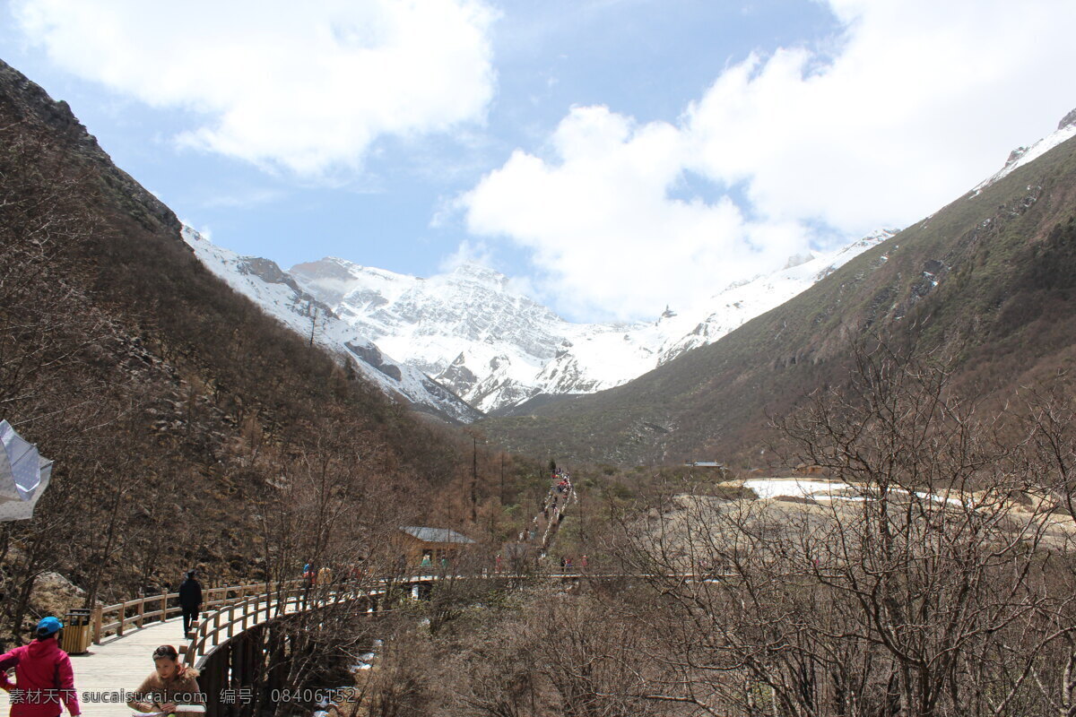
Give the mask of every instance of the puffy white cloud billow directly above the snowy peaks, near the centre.
[[798, 246], [794, 228], [752, 225], [727, 199], [668, 199], [690, 159], [671, 125], [576, 107], [552, 147], [556, 162], [515, 152], [463, 203], [472, 233], [533, 249], [566, 314], [652, 315], [665, 298], [713, 293], [719, 277], [751, 273]]

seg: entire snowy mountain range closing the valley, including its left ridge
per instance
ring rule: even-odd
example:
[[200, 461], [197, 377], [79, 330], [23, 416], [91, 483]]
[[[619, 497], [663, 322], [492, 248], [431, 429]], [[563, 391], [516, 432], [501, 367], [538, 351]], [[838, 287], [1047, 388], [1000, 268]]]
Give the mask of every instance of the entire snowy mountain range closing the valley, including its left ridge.
[[420, 278], [326, 257], [285, 272], [184, 230], [202, 262], [265, 311], [297, 331], [313, 327], [316, 341], [352, 357], [386, 392], [461, 420], [477, 416], [470, 406], [491, 412], [539, 393], [624, 384], [717, 341], [893, 233], [882, 229], [832, 252], [792, 257], [780, 271], [734, 283], [702, 307], [666, 306], [652, 321], [571, 324], [479, 263]]

